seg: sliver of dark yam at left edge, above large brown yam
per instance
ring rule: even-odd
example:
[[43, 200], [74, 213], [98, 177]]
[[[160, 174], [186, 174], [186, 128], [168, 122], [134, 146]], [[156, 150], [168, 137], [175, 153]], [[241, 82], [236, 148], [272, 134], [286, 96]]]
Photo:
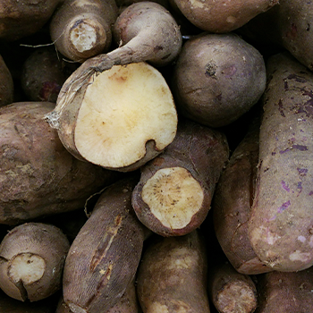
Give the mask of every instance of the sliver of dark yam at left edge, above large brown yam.
[[6, 106], [13, 102], [14, 84], [13, 77], [0, 55], [0, 106]]

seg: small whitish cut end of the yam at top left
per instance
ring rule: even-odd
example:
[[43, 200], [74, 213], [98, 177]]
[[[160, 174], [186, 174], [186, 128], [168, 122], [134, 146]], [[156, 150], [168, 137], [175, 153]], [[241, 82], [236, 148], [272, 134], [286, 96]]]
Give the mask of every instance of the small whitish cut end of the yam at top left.
[[70, 38], [73, 47], [83, 53], [97, 45], [97, 28], [87, 21], [81, 21], [71, 28]]

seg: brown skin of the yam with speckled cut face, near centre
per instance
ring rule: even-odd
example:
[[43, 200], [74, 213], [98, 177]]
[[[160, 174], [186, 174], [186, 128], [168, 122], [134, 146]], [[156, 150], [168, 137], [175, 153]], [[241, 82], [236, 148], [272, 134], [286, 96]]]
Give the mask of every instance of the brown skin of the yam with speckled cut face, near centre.
[[[141, 167], [140, 182], [132, 193], [132, 206], [142, 224], [145, 224], [154, 233], [163, 236], [183, 235], [198, 228], [207, 217], [216, 183], [228, 157], [228, 143], [222, 132], [181, 119], [178, 123], [176, 137], [165, 148], [164, 153]], [[176, 229], [163, 224], [163, 221], [154, 215], [151, 207], [142, 199], [142, 189], [148, 179], [157, 171], [175, 167], [182, 167], [189, 171], [190, 175], [199, 182], [204, 193], [201, 207], [192, 216], [190, 223]], [[162, 199], [162, 190], [157, 190], [157, 192], [160, 193]], [[184, 207], [184, 209], [188, 210], [188, 207]], [[169, 219], [173, 215], [171, 212], [169, 203], [168, 212], [165, 213]]]

